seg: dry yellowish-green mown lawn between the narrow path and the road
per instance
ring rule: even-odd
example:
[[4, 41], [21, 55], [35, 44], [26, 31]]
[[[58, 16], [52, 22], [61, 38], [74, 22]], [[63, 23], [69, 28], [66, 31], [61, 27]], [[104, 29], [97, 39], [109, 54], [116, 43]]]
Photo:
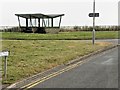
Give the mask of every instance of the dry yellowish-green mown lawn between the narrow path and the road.
[[10, 50], [8, 57], [8, 78], [3, 83], [14, 83], [25, 77], [40, 73], [110, 43], [96, 43], [80, 40], [3, 40], [2, 50]]

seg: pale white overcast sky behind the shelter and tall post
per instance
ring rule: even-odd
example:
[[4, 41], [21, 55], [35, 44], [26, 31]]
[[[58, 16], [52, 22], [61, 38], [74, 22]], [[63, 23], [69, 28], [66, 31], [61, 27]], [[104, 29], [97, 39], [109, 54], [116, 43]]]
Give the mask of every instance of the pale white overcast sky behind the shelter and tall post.
[[[118, 25], [118, 1], [96, 0], [96, 25]], [[0, 26], [18, 26], [19, 13], [65, 14], [62, 26], [92, 25], [93, 0], [1, 0]]]

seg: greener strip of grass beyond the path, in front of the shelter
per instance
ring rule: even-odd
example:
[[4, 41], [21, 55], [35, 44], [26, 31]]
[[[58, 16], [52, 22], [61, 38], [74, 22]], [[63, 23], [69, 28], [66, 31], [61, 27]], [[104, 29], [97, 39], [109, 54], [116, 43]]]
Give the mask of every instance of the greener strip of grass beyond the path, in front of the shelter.
[[[3, 39], [19, 40], [81, 40], [92, 39], [92, 32], [60, 32], [59, 34], [33, 34], [3, 32]], [[96, 31], [96, 39], [117, 39], [118, 31]]]

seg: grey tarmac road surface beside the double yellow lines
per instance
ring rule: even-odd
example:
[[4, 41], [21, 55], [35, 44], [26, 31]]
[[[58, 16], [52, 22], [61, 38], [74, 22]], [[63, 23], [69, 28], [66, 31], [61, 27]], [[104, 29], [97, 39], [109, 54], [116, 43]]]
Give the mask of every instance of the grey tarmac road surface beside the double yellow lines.
[[118, 48], [30, 88], [118, 88]]

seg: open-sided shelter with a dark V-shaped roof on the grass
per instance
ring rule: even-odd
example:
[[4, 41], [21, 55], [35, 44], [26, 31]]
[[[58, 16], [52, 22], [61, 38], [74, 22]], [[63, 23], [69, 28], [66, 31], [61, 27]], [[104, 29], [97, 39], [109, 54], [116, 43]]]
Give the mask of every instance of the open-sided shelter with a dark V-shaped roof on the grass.
[[[22, 32], [46, 33], [46, 29], [60, 28], [61, 19], [64, 14], [15, 14], [18, 17], [19, 27]], [[26, 25], [21, 25], [21, 18], [25, 18]], [[59, 18], [58, 26], [54, 26], [54, 19]], [[33, 25], [35, 21], [35, 26]], [[37, 25], [36, 25], [37, 24]], [[57, 29], [56, 29], [57, 30]]]

